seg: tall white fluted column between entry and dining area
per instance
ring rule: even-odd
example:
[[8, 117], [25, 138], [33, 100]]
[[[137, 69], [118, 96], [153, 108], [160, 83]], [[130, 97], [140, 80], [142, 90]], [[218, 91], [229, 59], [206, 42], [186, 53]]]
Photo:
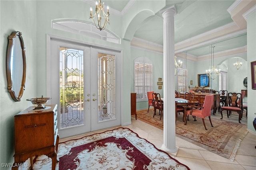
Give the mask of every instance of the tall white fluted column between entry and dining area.
[[174, 15], [175, 6], [162, 11], [164, 18], [164, 143], [162, 150], [177, 153], [175, 132]]

